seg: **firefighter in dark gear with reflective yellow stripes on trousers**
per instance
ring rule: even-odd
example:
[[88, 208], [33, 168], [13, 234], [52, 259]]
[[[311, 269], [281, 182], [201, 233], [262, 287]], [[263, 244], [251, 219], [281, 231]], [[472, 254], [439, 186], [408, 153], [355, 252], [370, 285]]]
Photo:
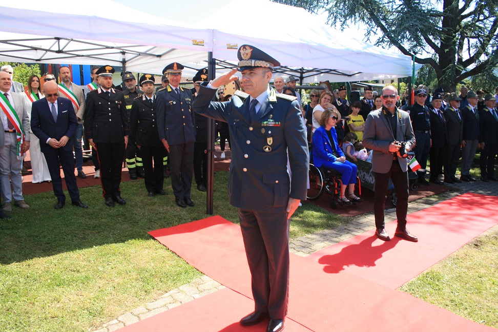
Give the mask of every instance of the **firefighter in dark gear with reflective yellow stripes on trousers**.
[[[133, 73], [124, 72], [122, 78], [122, 92], [124, 95], [124, 102], [126, 103], [126, 114], [128, 116], [128, 120], [130, 120], [133, 100], [141, 97], [143, 95], [143, 91], [137, 89], [137, 79]], [[137, 150], [137, 146], [133, 139], [128, 141], [128, 146], [126, 147], [126, 167], [130, 173], [130, 179], [132, 180], [136, 180], [138, 176], [142, 178], [145, 176], [143, 173], [143, 163], [140, 150]]]

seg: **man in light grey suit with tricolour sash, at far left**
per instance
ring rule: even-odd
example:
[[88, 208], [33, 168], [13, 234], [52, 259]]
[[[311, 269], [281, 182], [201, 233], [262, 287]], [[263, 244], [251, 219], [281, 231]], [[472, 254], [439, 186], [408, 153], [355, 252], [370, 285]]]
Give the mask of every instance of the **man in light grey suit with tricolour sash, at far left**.
[[[4, 211], [12, 211], [14, 204], [28, 209], [23, 198], [23, 179], [21, 168], [23, 158], [30, 146], [30, 123], [28, 117], [27, 98], [11, 92], [12, 79], [7, 72], [0, 71], [0, 120], [4, 143], [0, 146], [0, 174], [2, 175], [2, 194], [4, 195]], [[9, 175], [11, 181], [9, 181]], [[12, 182], [12, 190], [10, 184]]]

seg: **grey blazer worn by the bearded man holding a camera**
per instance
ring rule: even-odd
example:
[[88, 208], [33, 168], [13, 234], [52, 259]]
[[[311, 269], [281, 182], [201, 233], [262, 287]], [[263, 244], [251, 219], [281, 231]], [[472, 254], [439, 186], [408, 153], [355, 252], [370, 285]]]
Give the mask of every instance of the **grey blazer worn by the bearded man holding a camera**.
[[[407, 112], [398, 109], [395, 116], [399, 117], [396, 137], [387, 123], [386, 113], [382, 107], [368, 114], [363, 131], [363, 146], [372, 151], [372, 171], [387, 173], [391, 169], [392, 159], [395, 153], [389, 152], [389, 144], [393, 141], [406, 142], [406, 148], [410, 151], [415, 146], [415, 136], [411, 127], [410, 116]], [[397, 114], [397, 115], [396, 115]], [[403, 172], [407, 170], [406, 158], [398, 157], [398, 162]]]

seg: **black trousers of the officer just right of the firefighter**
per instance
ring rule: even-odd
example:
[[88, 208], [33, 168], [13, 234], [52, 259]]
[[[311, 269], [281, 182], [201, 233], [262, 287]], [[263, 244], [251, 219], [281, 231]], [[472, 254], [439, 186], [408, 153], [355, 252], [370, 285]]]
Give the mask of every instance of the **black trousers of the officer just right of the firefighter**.
[[[147, 191], [156, 193], [162, 190], [164, 184], [164, 167], [162, 165], [165, 151], [164, 146], [141, 146], [139, 151], [142, 155]], [[154, 164], [152, 163], [153, 161]]]

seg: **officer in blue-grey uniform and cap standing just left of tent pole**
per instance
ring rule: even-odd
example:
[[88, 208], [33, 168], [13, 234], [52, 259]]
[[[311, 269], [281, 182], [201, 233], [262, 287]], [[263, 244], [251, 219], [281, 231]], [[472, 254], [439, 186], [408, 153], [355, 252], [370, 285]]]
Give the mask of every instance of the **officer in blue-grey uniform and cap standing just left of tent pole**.
[[159, 138], [170, 153], [171, 185], [175, 202], [181, 208], [194, 206], [190, 198], [192, 165], [194, 164], [195, 118], [192, 111], [192, 91], [180, 87], [178, 63], [164, 67], [170, 84], [157, 94]]

